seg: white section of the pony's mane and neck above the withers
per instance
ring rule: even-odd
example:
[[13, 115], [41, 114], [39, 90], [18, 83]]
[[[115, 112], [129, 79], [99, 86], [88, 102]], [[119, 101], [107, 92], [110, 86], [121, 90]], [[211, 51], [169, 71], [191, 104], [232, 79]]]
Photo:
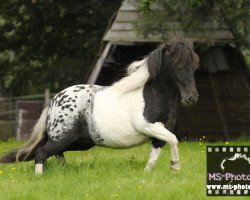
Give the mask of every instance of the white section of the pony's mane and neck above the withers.
[[145, 85], [149, 78], [146, 59], [132, 63], [129, 75], [115, 82], [111, 88], [119, 94], [137, 90]]

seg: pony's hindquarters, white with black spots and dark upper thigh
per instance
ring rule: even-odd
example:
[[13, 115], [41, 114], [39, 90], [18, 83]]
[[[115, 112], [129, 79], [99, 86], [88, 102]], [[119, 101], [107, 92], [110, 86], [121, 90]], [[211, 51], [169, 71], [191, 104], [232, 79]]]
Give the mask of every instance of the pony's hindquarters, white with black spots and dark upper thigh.
[[86, 150], [95, 145], [90, 132], [93, 130], [93, 98], [99, 88], [76, 85], [61, 91], [52, 99], [47, 123], [52, 141], [70, 141], [65, 150]]

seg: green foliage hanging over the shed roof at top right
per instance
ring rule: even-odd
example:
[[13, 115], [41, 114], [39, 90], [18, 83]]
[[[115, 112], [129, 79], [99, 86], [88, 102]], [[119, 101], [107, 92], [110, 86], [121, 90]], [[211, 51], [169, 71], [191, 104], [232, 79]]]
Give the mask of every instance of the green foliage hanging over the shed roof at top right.
[[[151, 9], [154, 3], [160, 5], [163, 10]], [[222, 21], [221, 17], [209, 15], [213, 12], [213, 7], [219, 8], [240, 46], [249, 48], [250, 3], [247, 0], [141, 0], [142, 15], [137, 29], [144, 36], [161, 34], [162, 38], [166, 39], [166, 33], [169, 31], [166, 21], [180, 21], [187, 32], [195, 28], [197, 30], [205, 21], [218, 24]]]

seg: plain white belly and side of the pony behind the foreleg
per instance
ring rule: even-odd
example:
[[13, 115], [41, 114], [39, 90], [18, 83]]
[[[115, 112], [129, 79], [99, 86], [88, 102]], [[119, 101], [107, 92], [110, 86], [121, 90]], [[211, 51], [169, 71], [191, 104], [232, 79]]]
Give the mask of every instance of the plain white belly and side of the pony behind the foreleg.
[[140, 133], [135, 124], [144, 123], [142, 90], [119, 96], [110, 89], [95, 96], [93, 118], [97, 145], [129, 148], [143, 144], [148, 137]]

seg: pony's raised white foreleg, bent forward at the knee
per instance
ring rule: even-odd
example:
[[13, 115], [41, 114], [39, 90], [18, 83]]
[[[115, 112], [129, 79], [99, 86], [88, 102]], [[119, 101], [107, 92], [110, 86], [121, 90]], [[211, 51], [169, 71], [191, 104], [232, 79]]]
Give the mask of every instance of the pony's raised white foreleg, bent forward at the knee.
[[159, 140], [166, 141], [170, 145], [171, 150], [171, 168], [173, 170], [180, 170], [180, 158], [178, 154], [178, 140], [176, 136], [167, 130], [160, 122], [148, 123], [143, 130], [144, 134], [150, 137], [155, 137]]

